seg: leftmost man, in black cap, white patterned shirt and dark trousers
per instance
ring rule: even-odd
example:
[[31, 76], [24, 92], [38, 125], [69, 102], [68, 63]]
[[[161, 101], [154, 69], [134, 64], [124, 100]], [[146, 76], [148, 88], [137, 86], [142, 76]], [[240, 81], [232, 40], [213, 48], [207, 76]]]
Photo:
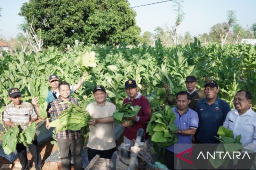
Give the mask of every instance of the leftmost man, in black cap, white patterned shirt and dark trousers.
[[[12, 100], [12, 103], [7, 105], [4, 108], [4, 117], [3, 121], [5, 125], [10, 127], [15, 127], [16, 125], [20, 127], [20, 130], [25, 130], [32, 122], [36, 121], [37, 114], [32, 104], [28, 102], [23, 102], [21, 100], [21, 92], [18, 88], [11, 88], [9, 90], [9, 99]], [[37, 105], [35, 98], [32, 99], [32, 103]], [[35, 106], [36, 107], [36, 106]], [[38, 106], [37, 106], [38, 107]], [[41, 169], [42, 159], [39, 152], [38, 142], [35, 139], [32, 144], [28, 145], [29, 151], [33, 156], [35, 162], [36, 170]], [[22, 169], [28, 169], [28, 158], [26, 147], [18, 143], [16, 146], [18, 152], [18, 157], [20, 159], [20, 164]]]

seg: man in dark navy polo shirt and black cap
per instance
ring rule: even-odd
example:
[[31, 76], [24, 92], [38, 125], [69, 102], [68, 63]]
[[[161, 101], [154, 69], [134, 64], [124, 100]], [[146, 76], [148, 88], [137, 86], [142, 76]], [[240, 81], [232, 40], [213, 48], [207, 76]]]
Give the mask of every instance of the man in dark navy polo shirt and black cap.
[[217, 93], [218, 84], [214, 80], [209, 80], [204, 85], [206, 98], [198, 101], [196, 112], [199, 117], [199, 124], [196, 131], [197, 144], [218, 144], [220, 143], [214, 136], [217, 134], [220, 126], [226, 119], [231, 110], [227, 102], [221, 100]]

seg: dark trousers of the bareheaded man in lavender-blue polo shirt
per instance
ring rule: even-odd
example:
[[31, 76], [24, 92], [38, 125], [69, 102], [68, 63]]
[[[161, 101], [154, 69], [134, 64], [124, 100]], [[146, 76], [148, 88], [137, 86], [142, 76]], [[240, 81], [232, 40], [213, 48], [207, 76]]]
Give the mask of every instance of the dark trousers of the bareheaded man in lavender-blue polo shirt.
[[[165, 148], [165, 155], [166, 155], [166, 165], [168, 169], [176, 169], [177, 168], [177, 159], [178, 157], [176, 156], [177, 154], [169, 151], [168, 149]], [[189, 159], [189, 154], [183, 154], [182, 157]], [[191, 164], [188, 162], [179, 159], [180, 161], [180, 166], [181, 169], [191, 169]]]

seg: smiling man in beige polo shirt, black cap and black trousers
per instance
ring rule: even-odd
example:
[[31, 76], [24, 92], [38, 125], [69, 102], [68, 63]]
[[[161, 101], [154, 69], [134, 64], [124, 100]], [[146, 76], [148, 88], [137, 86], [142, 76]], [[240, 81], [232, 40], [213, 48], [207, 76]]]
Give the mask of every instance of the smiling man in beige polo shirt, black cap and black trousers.
[[103, 86], [96, 86], [93, 94], [96, 101], [86, 107], [86, 111], [93, 118], [89, 122], [88, 159], [91, 161], [97, 154], [101, 158], [111, 159], [116, 151], [115, 125], [112, 117], [116, 106], [106, 101], [107, 93]]

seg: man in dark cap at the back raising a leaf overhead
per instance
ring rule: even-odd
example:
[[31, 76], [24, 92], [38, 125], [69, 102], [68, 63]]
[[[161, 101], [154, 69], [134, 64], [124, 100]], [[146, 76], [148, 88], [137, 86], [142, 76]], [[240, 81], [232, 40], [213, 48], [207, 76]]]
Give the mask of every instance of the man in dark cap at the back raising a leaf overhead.
[[[84, 82], [84, 75], [85, 73], [83, 73], [82, 77], [79, 79], [76, 85], [70, 85], [70, 94], [72, 94], [74, 91], [76, 91], [82, 86]], [[60, 82], [60, 79], [57, 75], [49, 76], [49, 85], [51, 86], [52, 90], [48, 92], [47, 98], [45, 99], [47, 103], [51, 103], [53, 100], [59, 98], [60, 96], [60, 92], [58, 88], [59, 82]]]

